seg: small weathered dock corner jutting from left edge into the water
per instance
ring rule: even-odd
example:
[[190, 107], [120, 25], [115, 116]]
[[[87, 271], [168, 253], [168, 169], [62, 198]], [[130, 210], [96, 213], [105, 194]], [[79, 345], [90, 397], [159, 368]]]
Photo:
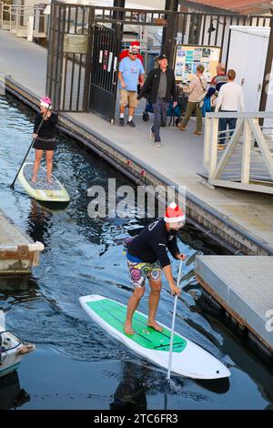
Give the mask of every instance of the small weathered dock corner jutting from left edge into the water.
[[0, 210], [0, 275], [30, 273], [39, 263], [41, 242], [34, 242], [21, 232]]

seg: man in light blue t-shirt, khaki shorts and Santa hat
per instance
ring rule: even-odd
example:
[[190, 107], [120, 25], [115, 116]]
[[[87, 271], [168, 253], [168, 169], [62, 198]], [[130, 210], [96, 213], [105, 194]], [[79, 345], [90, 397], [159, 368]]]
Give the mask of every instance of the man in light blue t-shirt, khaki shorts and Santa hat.
[[129, 116], [127, 120], [127, 125], [130, 127], [136, 127], [133, 117], [137, 107], [137, 84], [140, 77], [141, 83], [144, 82], [144, 68], [140, 61], [137, 58], [138, 47], [130, 46], [128, 56], [123, 58], [119, 64], [118, 79], [119, 79], [119, 105], [120, 105], [120, 117], [119, 125], [124, 126], [125, 124], [125, 110], [126, 107], [129, 107]]

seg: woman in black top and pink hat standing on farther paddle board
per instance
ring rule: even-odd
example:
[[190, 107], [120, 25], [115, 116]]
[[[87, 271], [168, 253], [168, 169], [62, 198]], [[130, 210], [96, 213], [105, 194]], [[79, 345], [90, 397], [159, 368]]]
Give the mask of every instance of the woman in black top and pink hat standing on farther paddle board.
[[[51, 108], [51, 99], [49, 97], [42, 97], [40, 101], [41, 112], [38, 113], [35, 117], [35, 127], [33, 134], [33, 138], [35, 138], [35, 143], [33, 145], [35, 148], [35, 163], [31, 180], [33, 183], [36, 182], [44, 151], [46, 160], [46, 179], [48, 183], [53, 182], [51, 175], [53, 168], [53, 156], [54, 151], [56, 150], [56, 125], [58, 123], [58, 117], [56, 113], [51, 111]], [[36, 134], [43, 117], [44, 121], [42, 126]]]

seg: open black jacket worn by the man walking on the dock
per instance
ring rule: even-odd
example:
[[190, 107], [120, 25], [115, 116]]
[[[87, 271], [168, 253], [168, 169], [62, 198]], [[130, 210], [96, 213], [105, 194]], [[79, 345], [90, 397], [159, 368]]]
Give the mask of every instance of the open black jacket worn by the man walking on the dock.
[[[154, 70], [149, 72], [149, 74], [147, 75], [145, 84], [141, 88], [137, 99], [140, 99], [142, 97], [147, 97], [147, 100], [150, 103], [156, 103], [161, 73], [162, 73], [161, 68], [155, 68]], [[172, 69], [167, 68], [166, 76], [167, 76], [167, 91], [166, 91], [165, 100], [167, 101], [167, 103], [171, 101], [171, 98], [173, 98], [173, 101], [177, 101], [177, 87], [176, 87], [175, 73]]]

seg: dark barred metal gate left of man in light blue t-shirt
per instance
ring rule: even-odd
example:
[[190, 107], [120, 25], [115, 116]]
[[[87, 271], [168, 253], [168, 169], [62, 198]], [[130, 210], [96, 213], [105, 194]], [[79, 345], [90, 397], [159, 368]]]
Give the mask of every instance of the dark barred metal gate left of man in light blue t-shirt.
[[121, 42], [122, 33], [118, 25], [115, 30], [95, 25], [88, 107], [111, 123], [115, 120], [117, 62]]

